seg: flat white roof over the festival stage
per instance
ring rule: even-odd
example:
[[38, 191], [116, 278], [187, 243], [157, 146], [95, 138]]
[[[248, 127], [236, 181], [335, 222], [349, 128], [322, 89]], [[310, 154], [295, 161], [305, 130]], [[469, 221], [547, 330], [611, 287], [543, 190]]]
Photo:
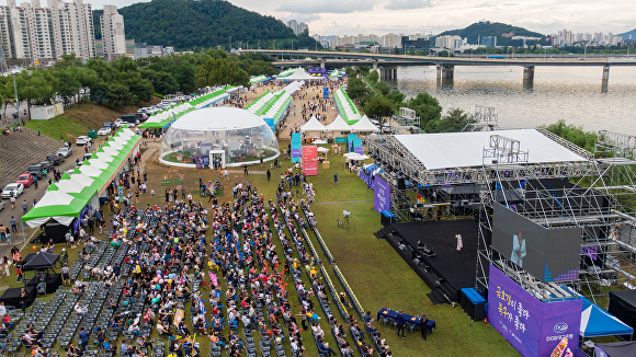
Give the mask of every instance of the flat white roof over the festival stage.
[[491, 135], [519, 140], [521, 150], [529, 152], [529, 163], [587, 161], [535, 129], [396, 135], [395, 138], [427, 170], [443, 170], [481, 166], [484, 148], [489, 147]]

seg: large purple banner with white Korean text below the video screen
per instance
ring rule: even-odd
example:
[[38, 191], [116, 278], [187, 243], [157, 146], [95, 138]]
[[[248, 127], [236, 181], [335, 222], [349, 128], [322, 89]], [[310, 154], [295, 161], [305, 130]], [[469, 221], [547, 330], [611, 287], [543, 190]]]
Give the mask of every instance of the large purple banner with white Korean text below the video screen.
[[549, 356], [563, 337], [576, 352], [582, 300], [542, 302], [490, 265], [488, 320], [525, 357]]

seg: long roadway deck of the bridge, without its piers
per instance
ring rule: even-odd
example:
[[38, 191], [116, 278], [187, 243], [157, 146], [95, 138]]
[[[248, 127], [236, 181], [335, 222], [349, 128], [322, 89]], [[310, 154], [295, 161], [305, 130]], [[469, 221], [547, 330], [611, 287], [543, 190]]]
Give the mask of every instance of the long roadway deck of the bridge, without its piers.
[[[626, 58], [579, 58], [568, 56], [566, 58], [536, 58], [518, 57], [515, 58], [484, 58], [484, 57], [432, 57], [432, 56], [412, 56], [412, 55], [389, 55], [389, 54], [370, 54], [370, 53], [344, 53], [330, 50], [288, 50], [288, 49], [240, 49], [240, 53], [257, 53], [274, 56], [284, 59], [292, 58], [310, 58], [308, 60], [286, 61], [287, 66], [292, 64], [315, 65], [321, 64], [326, 59], [326, 66], [334, 66], [333, 60], [343, 60], [344, 64], [364, 64], [378, 66], [636, 66], [636, 60]], [[315, 58], [318, 58], [316, 60]], [[332, 60], [330, 60], [332, 59]], [[283, 64], [279, 61], [277, 64]]]

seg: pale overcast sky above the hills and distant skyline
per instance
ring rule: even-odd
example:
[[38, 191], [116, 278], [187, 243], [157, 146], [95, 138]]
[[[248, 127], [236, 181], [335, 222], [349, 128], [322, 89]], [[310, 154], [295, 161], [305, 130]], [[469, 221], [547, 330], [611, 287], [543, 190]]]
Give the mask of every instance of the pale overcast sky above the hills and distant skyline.
[[[84, 0], [101, 9], [125, 7], [139, 0]], [[433, 33], [463, 28], [489, 20], [526, 27], [544, 34], [567, 28], [573, 32], [612, 32], [636, 27], [636, 2], [632, 0], [229, 0], [241, 8], [283, 21], [309, 24], [309, 33]], [[20, 2], [20, 1], [18, 1]]]

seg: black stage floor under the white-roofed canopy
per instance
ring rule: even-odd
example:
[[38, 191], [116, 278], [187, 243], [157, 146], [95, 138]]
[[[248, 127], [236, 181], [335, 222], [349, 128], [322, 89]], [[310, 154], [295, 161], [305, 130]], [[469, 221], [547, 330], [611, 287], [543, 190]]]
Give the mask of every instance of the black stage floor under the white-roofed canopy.
[[[459, 232], [464, 246], [457, 251], [455, 233]], [[462, 288], [475, 287], [477, 262], [477, 222], [473, 219], [390, 223], [375, 233], [385, 239], [409, 266], [427, 283], [435, 304], [458, 302]], [[418, 262], [413, 252], [418, 241], [432, 250], [421, 254]], [[400, 249], [400, 242], [405, 249]], [[427, 253], [423, 251], [423, 253]], [[429, 252], [430, 253], [430, 252]]]

